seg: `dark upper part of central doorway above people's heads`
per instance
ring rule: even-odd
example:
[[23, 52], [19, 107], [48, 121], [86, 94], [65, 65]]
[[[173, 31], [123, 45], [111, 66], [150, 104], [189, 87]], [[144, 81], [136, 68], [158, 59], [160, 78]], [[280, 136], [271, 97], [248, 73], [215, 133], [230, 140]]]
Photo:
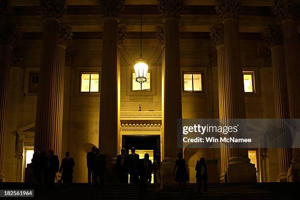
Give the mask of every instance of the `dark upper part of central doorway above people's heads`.
[[159, 135], [123, 135], [122, 148], [126, 153], [130, 153], [130, 149], [134, 147], [136, 150], [153, 150], [153, 155], [160, 154], [160, 136]]

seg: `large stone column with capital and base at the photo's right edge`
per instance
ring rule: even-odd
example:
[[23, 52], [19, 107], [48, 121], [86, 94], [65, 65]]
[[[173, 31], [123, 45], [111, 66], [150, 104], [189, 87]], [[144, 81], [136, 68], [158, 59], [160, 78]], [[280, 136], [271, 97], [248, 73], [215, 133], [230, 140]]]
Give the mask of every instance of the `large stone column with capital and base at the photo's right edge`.
[[[287, 89], [290, 105], [290, 119], [300, 119], [300, 70], [297, 17], [299, 4], [297, 0], [275, 0], [275, 13], [282, 24], [283, 44], [287, 75]], [[298, 130], [297, 130], [298, 129]], [[299, 127], [296, 127], [299, 131]], [[298, 133], [294, 132], [297, 135]], [[300, 144], [297, 144], [298, 146]], [[293, 160], [288, 170], [289, 181], [300, 181], [300, 149], [293, 149]]]

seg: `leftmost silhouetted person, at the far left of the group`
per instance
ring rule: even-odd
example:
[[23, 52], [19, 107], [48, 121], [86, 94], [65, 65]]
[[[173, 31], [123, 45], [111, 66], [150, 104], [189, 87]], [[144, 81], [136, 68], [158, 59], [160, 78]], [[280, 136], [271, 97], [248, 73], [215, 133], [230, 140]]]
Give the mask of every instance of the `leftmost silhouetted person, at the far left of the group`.
[[36, 150], [33, 153], [31, 159], [31, 164], [32, 164], [32, 169], [33, 169], [33, 174], [35, 176], [36, 184], [40, 184], [41, 182], [42, 171], [44, 171], [45, 169], [45, 165], [44, 165], [45, 159], [46, 159], [46, 153], [45, 151], [41, 150], [41, 145], [36, 146]]

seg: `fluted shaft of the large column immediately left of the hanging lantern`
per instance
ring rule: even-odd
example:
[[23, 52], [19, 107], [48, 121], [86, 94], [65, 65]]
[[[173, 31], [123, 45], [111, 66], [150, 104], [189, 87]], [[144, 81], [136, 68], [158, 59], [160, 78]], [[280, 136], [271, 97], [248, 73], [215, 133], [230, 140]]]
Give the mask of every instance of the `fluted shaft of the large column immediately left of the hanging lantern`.
[[117, 156], [118, 137], [118, 19], [105, 18], [102, 32], [99, 147]]

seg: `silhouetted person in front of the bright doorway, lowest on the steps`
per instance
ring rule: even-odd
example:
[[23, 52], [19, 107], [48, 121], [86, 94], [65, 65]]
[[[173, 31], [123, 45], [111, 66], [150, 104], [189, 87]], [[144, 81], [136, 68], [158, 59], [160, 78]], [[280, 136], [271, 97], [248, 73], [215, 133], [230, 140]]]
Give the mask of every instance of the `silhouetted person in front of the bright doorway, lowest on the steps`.
[[147, 195], [147, 187], [152, 174], [152, 162], [149, 160], [148, 153], [145, 153], [145, 157], [139, 160], [138, 173], [140, 175], [140, 194], [144, 192]]

